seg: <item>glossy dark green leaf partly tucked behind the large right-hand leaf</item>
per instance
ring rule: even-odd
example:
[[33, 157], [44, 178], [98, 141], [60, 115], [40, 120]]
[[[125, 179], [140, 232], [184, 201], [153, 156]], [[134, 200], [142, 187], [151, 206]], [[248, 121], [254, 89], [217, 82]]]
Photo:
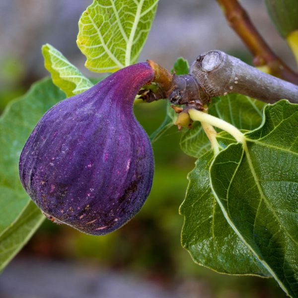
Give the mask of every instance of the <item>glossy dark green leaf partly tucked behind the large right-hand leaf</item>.
[[212, 151], [196, 161], [188, 175], [186, 198], [180, 207], [184, 216], [182, 246], [194, 262], [217, 272], [269, 276], [224, 218], [209, 182]]

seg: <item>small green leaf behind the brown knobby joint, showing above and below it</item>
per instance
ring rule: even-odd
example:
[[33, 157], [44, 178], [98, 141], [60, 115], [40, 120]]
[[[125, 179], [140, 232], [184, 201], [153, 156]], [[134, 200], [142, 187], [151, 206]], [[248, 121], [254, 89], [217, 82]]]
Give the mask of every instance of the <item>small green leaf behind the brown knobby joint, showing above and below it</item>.
[[[172, 69], [172, 72], [173, 71], [175, 71], [177, 75], [188, 74], [188, 61], [182, 57], [177, 58]], [[160, 126], [156, 129], [156, 131], [150, 135], [151, 143], [156, 142], [165, 132], [167, 132], [172, 126], [175, 125], [177, 114], [170, 106], [171, 103], [167, 100], [165, 118]]]

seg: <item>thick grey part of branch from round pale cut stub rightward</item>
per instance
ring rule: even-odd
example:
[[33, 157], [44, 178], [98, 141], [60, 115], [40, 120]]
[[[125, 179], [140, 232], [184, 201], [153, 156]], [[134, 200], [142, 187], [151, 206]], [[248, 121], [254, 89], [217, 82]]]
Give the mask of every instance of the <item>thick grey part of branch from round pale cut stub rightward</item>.
[[267, 103], [274, 103], [280, 99], [298, 103], [297, 85], [264, 74], [221, 51], [210, 51], [200, 55], [192, 64], [190, 74], [210, 97], [235, 92]]

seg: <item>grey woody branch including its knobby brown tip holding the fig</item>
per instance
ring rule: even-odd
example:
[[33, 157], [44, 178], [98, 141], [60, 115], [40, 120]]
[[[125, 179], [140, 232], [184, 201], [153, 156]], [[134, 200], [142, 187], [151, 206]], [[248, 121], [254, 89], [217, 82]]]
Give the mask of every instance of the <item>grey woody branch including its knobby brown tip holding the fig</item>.
[[155, 100], [168, 98], [173, 104], [186, 104], [188, 108], [202, 110], [211, 97], [233, 92], [267, 103], [280, 99], [298, 103], [298, 85], [265, 74], [222, 51], [200, 55], [186, 75], [172, 75], [156, 63], [149, 61], [149, 64], [156, 74], [163, 74], [155, 76], [157, 86], [166, 86], [158, 88], [154, 96], [146, 95]]

